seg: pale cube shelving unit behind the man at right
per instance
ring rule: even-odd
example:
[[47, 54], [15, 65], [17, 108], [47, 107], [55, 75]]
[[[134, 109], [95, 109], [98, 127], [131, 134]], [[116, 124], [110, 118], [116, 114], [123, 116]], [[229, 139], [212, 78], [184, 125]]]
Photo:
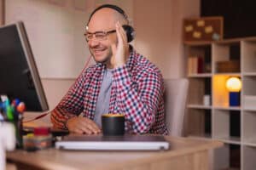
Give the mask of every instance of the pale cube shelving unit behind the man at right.
[[[256, 37], [186, 42], [185, 55], [189, 78], [187, 135], [224, 142], [224, 147], [213, 151], [213, 169], [255, 169]], [[203, 59], [202, 72], [191, 71], [190, 58]], [[220, 64], [226, 61], [237, 63], [236, 69], [225, 71]], [[241, 78], [239, 106], [230, 106], [230, 92], [225, 88], [229, 77]], [[204, 105], [204, 95], [210, 95], [210, 105]]]

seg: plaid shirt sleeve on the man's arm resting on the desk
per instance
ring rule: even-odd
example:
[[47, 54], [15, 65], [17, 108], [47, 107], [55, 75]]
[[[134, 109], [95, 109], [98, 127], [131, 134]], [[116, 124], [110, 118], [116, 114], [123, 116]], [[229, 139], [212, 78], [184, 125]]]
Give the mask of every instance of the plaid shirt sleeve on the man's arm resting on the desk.
[[61, 102], [51, 111], [50, 120], [54, 127], [67, 129], [67, 120], [74, 116], [79, 116], [83, 111], [83, 96], [84, 74], [82, 73], [61, 99]]

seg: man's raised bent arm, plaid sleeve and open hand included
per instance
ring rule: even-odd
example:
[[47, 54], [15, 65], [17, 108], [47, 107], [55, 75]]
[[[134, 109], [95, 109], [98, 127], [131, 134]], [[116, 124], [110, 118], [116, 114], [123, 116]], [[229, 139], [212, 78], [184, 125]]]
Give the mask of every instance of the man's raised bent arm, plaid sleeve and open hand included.
[[116, 23], [117, 45], [112, 45], [113, 82], [117, 87], [119, 111], [125, 113], [134, 133], [148, 133], [155, 121], [158, 105], [163, 94], [163, 81], [160, 72], [141, 71], [138, 82], [131, 81], [125, 65], [129, 56], [129, 45], [124, 29]]

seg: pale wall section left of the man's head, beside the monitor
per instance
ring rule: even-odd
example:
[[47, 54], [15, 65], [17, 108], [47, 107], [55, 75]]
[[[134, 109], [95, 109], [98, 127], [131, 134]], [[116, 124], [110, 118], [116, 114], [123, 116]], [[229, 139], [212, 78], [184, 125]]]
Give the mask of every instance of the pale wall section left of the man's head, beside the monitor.
[[[6, 0], [5, 24], [24, 22], [41, 77], [75, 78], [90, 58], [85, 25], [91, 11], [102, 3], [106, 1]], [[124, 8], [132, 18], [133, 0], [108, 3]]]

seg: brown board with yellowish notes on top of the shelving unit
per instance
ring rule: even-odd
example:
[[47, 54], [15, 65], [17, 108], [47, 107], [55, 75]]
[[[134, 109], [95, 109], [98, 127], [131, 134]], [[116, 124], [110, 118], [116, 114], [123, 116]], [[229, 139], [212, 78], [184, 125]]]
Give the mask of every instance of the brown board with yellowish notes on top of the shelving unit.
[[183, 20], [183, 41], [201, 42], [223, 39], [224, 18], [221, 16]]

